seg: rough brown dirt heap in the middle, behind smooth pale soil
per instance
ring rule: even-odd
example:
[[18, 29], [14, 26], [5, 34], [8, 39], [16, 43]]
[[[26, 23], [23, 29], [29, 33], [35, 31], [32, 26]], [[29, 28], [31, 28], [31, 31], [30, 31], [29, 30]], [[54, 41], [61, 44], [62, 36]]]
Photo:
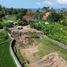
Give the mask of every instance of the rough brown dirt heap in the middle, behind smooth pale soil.
[[24, 48], [29, 48], [31, 46], [37, 45], [37, 42], [34, 38], [31, 38], [29, 35], [24, 35], [21, 36], [21, 38], [19, 38], [19, 40], [17, 40], [16, 44], [24, 49]]

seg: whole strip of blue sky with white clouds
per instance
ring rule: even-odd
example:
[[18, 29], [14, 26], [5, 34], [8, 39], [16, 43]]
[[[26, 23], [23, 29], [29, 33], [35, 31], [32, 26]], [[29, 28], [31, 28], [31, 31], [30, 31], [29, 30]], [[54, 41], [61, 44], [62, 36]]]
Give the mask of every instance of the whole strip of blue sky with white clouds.
[[67, 8], [67, 0], [0, 0], [0, 5], [8, 8]]

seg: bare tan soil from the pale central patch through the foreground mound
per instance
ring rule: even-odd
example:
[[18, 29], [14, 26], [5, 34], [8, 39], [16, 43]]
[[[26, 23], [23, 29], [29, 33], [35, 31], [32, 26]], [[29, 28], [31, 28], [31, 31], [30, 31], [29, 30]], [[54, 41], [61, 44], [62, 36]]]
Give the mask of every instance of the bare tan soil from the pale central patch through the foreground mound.
[[28, 61], [28, 67], [67, 67], [67, 62], [56, 52], [37, 59], [34, 53], [38, 52], [38, 50], [38, 46], [20, 49], [21, 54]]

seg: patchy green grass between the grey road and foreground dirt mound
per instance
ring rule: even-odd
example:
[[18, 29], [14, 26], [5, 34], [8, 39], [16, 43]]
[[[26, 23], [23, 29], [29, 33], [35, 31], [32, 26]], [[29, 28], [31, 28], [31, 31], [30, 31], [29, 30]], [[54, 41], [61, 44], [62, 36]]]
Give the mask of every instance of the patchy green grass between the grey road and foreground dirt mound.
[[34, 54], [36, 58], [42, 58], [43, 56], [57, 52], [65, 60], [67, 60], [67, 50], [59, 47], [58, 45], [48, 41], [47, 39], [37, 39], [40, 45], [40, 50]]

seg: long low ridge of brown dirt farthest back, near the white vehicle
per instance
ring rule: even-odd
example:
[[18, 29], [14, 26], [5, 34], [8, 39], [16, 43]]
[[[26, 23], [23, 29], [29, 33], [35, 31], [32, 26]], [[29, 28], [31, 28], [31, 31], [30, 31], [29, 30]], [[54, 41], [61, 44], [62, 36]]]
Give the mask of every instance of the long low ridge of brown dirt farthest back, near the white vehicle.
[[40, 37], [41, 35], [43, 35], [43, 32], [38, 31], [36, 29], [32, 29], [32, 28], [26, 28], [22, 30], [11, 30], [11, 34], [14, 38], [17, 38], [23, 35], [30, 35], [32, 37]]

